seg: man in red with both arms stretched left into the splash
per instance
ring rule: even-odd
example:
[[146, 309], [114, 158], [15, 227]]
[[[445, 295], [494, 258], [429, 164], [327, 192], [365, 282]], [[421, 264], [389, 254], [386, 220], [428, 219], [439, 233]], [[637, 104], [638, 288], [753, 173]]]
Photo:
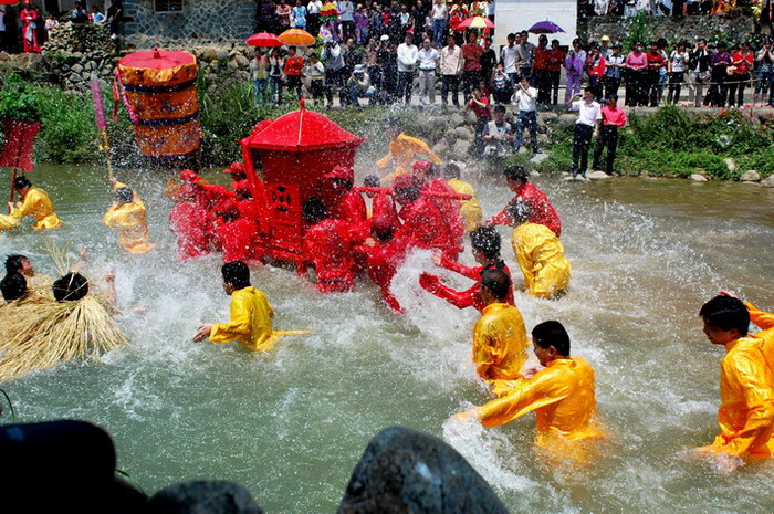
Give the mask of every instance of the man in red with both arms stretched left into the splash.
[[[511, 276], [511, 270], [508, 264], [500, 258], [501, 239], [494, 227], [479, 227], [470, 233], [470, 244], [473, 250], [473, 259], [481, 264], [480, 266], [466, 266], [454, 261], [437, 258], [436, 264], [447, 270], [451, 270], [468, 279], [474, 280], [475, 283], [466, 291], [456, 291], [443, 284], [441, 280], [430, 273], [422, 273], [419, 276], [419, 285], [429, 293], [446, 300], [457, 308], [475, 307], [481, 312], [487, 306], [481, 298], [481, 276], [483, 272], [491, 269], [502, 270]], [[508, 303], [515, 305], [513, 300], [513, 285], [509, 285]]]

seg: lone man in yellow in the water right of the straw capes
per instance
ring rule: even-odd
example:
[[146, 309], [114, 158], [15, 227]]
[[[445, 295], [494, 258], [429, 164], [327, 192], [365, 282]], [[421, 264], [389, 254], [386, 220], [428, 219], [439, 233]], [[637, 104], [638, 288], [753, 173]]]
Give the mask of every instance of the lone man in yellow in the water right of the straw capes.
[[231, 296], [228, 323], [201, 325], [194, 342], [209, 337], [210, 343], [238, 340], [253, 352], [271, 352], [280, 336], [305, 334], [307, 331], [274, 331], [274, 310], [262, 292], [250, 285], [250, 269], [242, 261], [223, 264], [223, 290]]

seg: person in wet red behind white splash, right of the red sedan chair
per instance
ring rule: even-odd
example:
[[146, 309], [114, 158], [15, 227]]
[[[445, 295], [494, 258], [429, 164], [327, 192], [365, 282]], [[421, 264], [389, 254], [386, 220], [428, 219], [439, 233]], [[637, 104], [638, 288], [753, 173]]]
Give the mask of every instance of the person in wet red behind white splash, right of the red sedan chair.
[[396, 239], [410, 238], [423, 249], [438, 249], [450, 259], [456, 260], [460, 252], [459, 243], [451, 237], [443, 212], [432, 198], [422, 197], [421, 186], [414, 176], [399, 175], [393, 183], [395, 201], [402, 206], [399, 216], [404, 224], [398, 229]]

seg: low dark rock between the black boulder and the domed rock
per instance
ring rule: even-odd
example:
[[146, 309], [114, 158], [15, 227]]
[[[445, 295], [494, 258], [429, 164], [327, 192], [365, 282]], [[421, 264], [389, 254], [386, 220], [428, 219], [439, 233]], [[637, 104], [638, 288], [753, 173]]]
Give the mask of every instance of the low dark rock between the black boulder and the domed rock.
[[231, 482], [191, 481], [150, 497], [154, 514], [263, 514], [247, 489]]

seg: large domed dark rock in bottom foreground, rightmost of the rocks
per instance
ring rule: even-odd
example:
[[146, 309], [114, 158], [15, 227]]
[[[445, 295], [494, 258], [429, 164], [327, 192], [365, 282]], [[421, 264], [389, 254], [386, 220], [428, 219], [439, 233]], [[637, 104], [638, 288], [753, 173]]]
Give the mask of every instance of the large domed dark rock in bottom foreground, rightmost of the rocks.
[[481, 475], [440, 439], [404, 427], [377, 433], [338, 514], [506, 514]]

